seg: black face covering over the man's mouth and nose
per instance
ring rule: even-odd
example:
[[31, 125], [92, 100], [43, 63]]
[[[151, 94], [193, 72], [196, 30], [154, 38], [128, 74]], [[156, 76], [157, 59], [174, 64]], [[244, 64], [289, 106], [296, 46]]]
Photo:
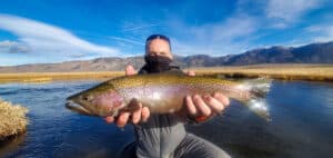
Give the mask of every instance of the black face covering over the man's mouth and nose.
[[171, 59], [164, 56], [144, 56], [148, 71], [162, 72], [170, 69]]

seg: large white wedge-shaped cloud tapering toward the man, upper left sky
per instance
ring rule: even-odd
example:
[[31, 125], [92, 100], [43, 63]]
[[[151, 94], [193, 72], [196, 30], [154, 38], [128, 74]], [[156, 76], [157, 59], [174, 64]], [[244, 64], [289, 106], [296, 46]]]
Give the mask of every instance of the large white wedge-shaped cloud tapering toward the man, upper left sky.
[[114, 48], [80, 39], [62, 28], [16, 16], [0, 14], [0, 29], [18, 37], [16, 43], [3, 42], [3, 45], [27, 47], [29, 52], [46, 57], [50, 55], [63, 57], [114, 56], [119, 52]]

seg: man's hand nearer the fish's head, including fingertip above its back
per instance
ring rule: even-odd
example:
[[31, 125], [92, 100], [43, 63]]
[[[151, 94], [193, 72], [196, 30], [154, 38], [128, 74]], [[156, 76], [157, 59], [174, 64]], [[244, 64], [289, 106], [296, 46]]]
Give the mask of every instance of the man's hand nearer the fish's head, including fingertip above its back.
[[[125, 76], [132, 76], [132, 75], [135, 75], [135, 70], [132, 66], [127, 66], [125, 68]], [[149, 108], [147, 107], [142, 107], [142, 103], [140, 102], [135, 102], [135, 103], [139, 103], [139, 109], [134, 112], [121, 112], [117, 119], [114, 117], [105, 117], [105, 121], [108, 124], [111, 124], [111, 122], [115, 122], [118, 127], [120, 128], [123, 128], [128, 122], [129, 122], [129, 119], [130, 119], [130, 116], [132, 116], [131, 118], [131, 121], [133, 124], [139, 124], [140, 121], [147, 121], [149, 116], [150, 116], [150, 111], [149, 111]]]

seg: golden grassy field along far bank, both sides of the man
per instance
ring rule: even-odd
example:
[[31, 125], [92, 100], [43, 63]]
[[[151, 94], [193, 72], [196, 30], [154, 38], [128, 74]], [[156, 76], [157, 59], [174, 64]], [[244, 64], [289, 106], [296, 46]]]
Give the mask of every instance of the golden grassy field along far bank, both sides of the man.
[[[226, 78], [269, 77], [283, 80], [333, 81], [333, 65], [254, 65], [241, 67], [189, 68], [201, 76]], [[123, 71], [98, 72], [26, 72], [0, 73], [0, 82], [48, 82], [69, 79], [108, 79], [123, 76]]]

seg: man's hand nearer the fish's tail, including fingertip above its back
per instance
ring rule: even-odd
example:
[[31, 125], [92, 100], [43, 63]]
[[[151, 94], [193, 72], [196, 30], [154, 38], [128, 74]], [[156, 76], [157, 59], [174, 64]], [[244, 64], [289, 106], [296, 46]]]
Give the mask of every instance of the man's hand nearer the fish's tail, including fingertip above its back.
[[[189, 71], [189, 76], [195, 76], [194, 71]], [[194, 118], [195, 121], [204, 121], [216, 113], [221, 113], [230, 103], [229, 99], [220, 92], [211, 95], [186, 96], [186, 116]]]

